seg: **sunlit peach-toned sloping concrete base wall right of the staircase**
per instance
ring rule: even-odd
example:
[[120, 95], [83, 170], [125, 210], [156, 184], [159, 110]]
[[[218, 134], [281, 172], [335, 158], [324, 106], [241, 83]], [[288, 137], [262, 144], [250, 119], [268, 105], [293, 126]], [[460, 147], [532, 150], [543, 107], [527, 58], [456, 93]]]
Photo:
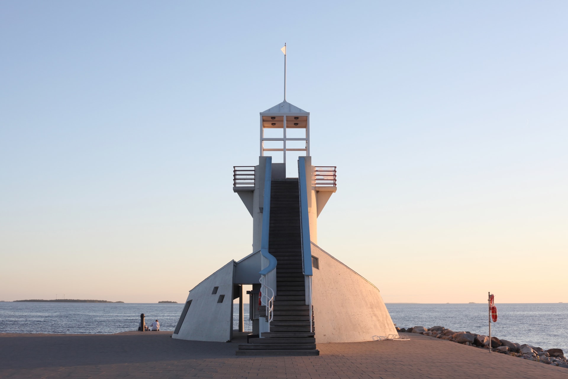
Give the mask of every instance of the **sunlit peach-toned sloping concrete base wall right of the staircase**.
[[373, 340], [396, 334], [379, 290], [312, 243], [319, 269], [312, 277], [316, 343]]

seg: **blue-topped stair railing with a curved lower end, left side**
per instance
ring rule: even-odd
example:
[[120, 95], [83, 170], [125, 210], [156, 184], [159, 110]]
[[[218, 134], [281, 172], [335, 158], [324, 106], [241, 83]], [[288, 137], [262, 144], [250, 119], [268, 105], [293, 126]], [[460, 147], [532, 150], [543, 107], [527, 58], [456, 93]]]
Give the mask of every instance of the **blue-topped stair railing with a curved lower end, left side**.
[[265, 157], [266, 170], [264, 174], [264, 200], [262, 203], [262, 233], [260, 240], [261, 267], [259, 274], [261, 284], [260, 302], [266, 307], [266, 320], [268, 331], [274, 316], [274, 296], [276, 288], [276, 258], [268, 252], [268, 238], [270, 235], [270, 190], [272, 187], [272, 157]]

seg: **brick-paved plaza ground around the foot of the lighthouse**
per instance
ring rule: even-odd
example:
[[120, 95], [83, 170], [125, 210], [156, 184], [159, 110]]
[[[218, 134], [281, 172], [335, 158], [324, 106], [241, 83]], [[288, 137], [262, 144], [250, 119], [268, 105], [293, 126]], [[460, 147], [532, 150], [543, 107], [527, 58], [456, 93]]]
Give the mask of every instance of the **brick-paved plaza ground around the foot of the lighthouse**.
[[568, 369], [416, 334], [318, 344], [321, 355], [311, 357], [237, 357], [242, 337], [218, 343], [170, 334], [0, 334], [0, 378], [568, 378]]

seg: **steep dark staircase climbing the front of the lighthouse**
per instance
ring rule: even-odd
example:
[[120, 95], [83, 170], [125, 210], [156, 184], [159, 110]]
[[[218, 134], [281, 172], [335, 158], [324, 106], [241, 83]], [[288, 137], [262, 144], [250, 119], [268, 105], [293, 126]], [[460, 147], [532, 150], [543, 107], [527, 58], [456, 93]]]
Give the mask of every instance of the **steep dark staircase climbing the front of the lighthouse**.
[[310, 306], [306, 305], [302, 273], [298, 179], [272, 181], [268, 251], [278, 261], [270, 332], [240, 344], [236, 354], [319, 355], [315, 332], [310, 332], [314, 319], [310, 320]]

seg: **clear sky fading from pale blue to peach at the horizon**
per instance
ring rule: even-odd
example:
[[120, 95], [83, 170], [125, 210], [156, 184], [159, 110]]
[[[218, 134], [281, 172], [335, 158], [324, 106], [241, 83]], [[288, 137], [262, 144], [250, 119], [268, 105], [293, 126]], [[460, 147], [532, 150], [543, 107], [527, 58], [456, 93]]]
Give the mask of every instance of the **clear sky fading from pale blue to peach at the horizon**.
[[565, 1], [0, 3], [0, 300], [184, 301], [250, 253], [232, 166], [257, 163], [286, 42], [312, 161], [338, 166], [323, 249], [387, 302], [568, 302], [567, 16]]

